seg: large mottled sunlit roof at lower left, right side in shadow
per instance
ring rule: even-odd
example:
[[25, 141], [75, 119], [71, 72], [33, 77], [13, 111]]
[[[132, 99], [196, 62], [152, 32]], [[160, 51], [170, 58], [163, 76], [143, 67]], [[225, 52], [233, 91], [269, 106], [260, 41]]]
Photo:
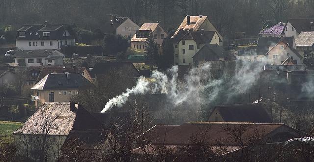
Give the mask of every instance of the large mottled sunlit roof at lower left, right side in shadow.
[[41, 106], [14, 134], [42, 134], [43, 121], [52, 123], [49, 135], [68, 135], [70, 130], [102, 129], [101, 123], [79, 103], [50, 102]]

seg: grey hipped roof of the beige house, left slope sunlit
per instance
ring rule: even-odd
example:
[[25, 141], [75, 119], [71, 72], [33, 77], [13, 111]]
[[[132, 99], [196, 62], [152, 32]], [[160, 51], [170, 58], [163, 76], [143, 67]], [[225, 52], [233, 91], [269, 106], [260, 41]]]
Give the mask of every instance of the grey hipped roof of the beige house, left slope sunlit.
[[[67, 78], [67, 75], [69, 78]], [[58, 89], [79, 89], [90, 86], [86, 78], [79, 73], [61, 73], [61, 74], [48, 74], [42, 80], [37, 82], [31, 89], [32, 90], [58, 90]]]

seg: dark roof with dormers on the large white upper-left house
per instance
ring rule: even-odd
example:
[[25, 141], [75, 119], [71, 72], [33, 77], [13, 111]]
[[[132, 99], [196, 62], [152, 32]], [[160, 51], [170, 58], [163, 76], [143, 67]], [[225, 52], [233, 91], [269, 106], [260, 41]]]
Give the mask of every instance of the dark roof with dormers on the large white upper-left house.
[[[67, 30], [70, 36], [63, 36]], [[25, 32], [25, 37], [19, 37], [20, 32]], [[50, 32], [49, 37], [44, 37], [43, 32]], [[74, 39], [75, 33], [72, 27], [67, 24], [33, 24], [23, 25], [16, 31], [17, 40], [56, 40], [56, 39]]]

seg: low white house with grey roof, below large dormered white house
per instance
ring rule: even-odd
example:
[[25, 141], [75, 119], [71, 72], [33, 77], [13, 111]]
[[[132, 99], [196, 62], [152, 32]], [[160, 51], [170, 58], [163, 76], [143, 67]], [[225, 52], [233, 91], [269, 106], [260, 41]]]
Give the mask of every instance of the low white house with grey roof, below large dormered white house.
[[64, 54], [58, 50], [16, 50], [15, 63], [20, 66], [63, 65]]

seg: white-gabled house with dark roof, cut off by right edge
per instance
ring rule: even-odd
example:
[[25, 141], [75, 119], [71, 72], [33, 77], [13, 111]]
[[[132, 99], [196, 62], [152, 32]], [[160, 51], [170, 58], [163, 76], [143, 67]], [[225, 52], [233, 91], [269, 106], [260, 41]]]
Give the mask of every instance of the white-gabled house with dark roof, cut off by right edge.
[[303, 31], [314, 31], [314, 18], [311, 19], [288, 19], [285, 28], [284, 36], [297, 38]]

